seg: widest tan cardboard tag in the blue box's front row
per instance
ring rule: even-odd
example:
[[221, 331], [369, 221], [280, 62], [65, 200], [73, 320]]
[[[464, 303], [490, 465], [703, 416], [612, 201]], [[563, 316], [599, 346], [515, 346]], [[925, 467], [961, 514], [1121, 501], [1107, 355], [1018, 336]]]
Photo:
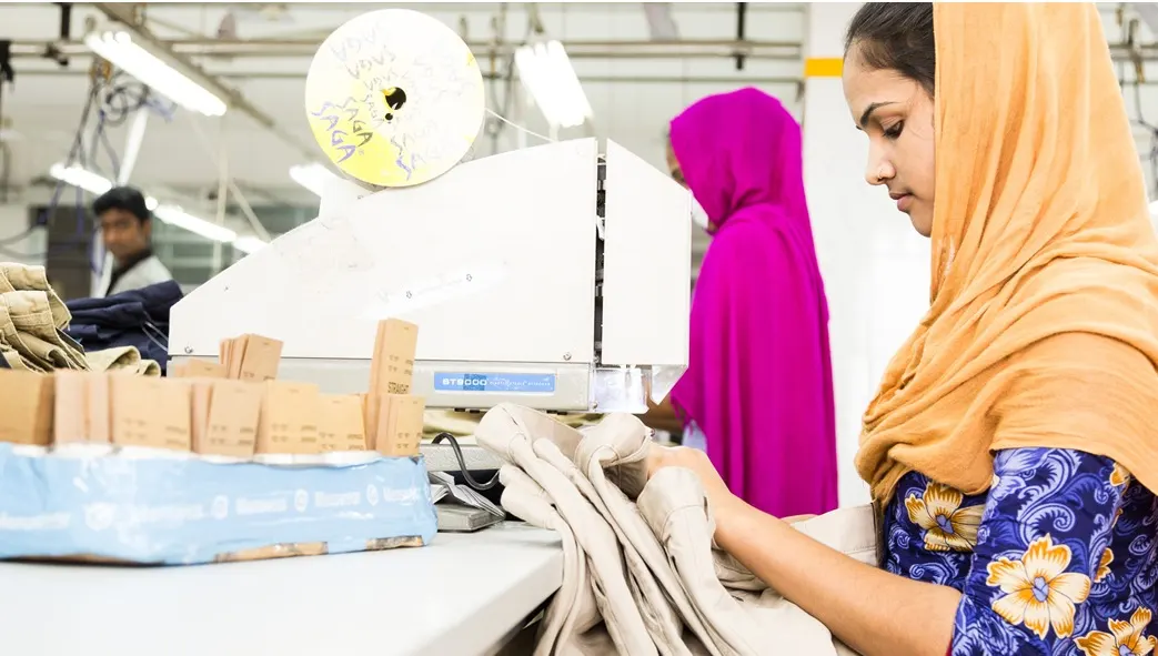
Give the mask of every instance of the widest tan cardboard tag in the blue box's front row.
[[113, 376], [112, 443], [192, 449], [189, 385], [142, 376]]

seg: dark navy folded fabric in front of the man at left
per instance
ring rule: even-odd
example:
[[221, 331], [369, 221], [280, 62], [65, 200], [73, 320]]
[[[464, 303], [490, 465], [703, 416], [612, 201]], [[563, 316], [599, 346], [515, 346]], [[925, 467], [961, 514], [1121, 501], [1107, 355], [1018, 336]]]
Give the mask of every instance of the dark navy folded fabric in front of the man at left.
[[166, 280], [104, 298], [68, 301], [72, 323], [65, 332], [86, 352], [135, 346], [163, 374], [169, 358], [169, 309], [183, 296], [179, 285]]

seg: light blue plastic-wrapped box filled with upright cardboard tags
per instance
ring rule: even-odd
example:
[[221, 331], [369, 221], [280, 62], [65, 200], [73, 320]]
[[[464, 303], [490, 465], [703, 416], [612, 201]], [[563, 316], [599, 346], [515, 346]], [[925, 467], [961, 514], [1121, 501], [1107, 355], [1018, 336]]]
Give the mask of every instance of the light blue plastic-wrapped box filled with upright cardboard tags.
[[[221, 521], [214, 524], [218, 529], [212, 529], [222, 531], [218, 536], [220, 544], [237, 543], [234, 533], [223, 532], [226, 528], [241, 533], [249, 531], [249, 537], [258, 543], [242, 548], [243, 557], [225, 550], [207, 557], [192, 557], [197, 562], [426, 544], [433, 536], [435, 518], [425, 465], [416, 457], [425, 403], [409, 393], [417, 336], [415, 324], [398, 319], [380, 323], [371, 385], [362, 395], [327, 395], [315, 384], [278, 379], [283, 345], [256, 334], [225, 340], [219, 362], [189, 360], [170, 367], [170, 378], [91, 371], [43, 375], [0, 369], [0, 442], [9, 443], [0, 444], [0, 471], [15, 472], [10, 481], [28, 481], [25, 502], [16, 499], [12, 508], [0, 502], [0, 516], [13, 516], [28, 508], [43, 509], [59, 501], [51, 484], [34, 485], [45, 476], [41, 469], [60, 469], [49, 464], [58, 457], [79, 462], [78, 454], [91, 454], [97, 458], [87, 465], [76, 465], [89, 467], [78, 470], [88, 472], [83, 476], [100, 479], [108, 474], [97, 470], [109, 467], [109, 472], [119, 472], [117, 476], [124, 481], [127, 470], [116, 467], [141, 467], [131, 477], [138, 487], [101, 491], [109, 499], [122, 499], [117, 495], [132, 489], [135, 501], [125, 497], [125, 502], [161, 503], [161, 497], [173, 496], [164, 501], [170, 504], [167, 508], [176, 508], [171, 504], [178, 500], [184, 504], [182, 508], [190, 508], [196, 504], [192, 499], [198, 494], [212, 492], [215, 496], [200, 507], [205, 508], [204, 516]], [[124, 458], [140, 464], [116, 464], [115, 460]], [[166, 470], [161, 465], [174, 458], [188, 462], [164, 465], [182, 467], [179, 476], [175, 473], [177, 470]], [[16, 463], [17, 459], [21, 462]], [[44, 460], [44, 464], [35, 460]], [[221, 469], [222, 464], [240, 464], [241, 469]], [[294, 466], [277, 466], [284, 464]], [[155, 478], [151, 478], [154, 473]], [[148, 480], [155, 481], [152, 492], [147, 488]], [[25, 494], [20, 489], [24, 484], [6, 485], [10, 481], [0, 482], [0, 494]], [[64, 487], [71, 487], [63, 481]], [[271, 501], [283, 493], [290, 496]], [[98, 496], [86, 494], [85, 503], [93, 503]], [[230, 509], [234, 499], [239, 506]], [[403, 501], [391, 509], [393, 501], [387, 499]], [[105, 507], [116, 503], [109, 501]], [[316, 510], [316, 524], [330, 526], [338, 536], [357, 536], [359, 530], [381, 532], [371, 533], [362, 541], [354, 540], [357, 544], [336, 547], [332, 541], [327, 544], [331, 538], [262, 541], [254, 537], [254, 526], [244, 524], [250, 515], [276, 514], [286, 508], [299, 514], [294, 522], [300, 525], [306, 525], [301, 523], [303, 517]], [[63, 511], [80, 510], [66, 508]], [[133, 513], [125, 516], [132, 518]], [[342, 524], [350, 517], [361, 517], [362, 524], [354, 525], [353, 530]], [[294, 524], [271, 523], [269, 518], [263, 522], [255, 525]], [[181, 529], [181, 522], [171, 523], [173, 526], [175, 531]], [[212, 530], [198, 529], [185, 537], [200, 539], [199, 536]], [[309, 536], [330, 535], [323, 533], [321, 528], [306, 530]], [[117, 532], [107, 530], [103, 535]], [[0, 543], [5, 540], [3, 535], [0, 525]], [[284, 538], [298, 533], [278, 535]], [[182, 538], [156, 539], [157, 544], [164, 540], [168, 540], [164, 544], [177, 544], [175, 540]], [[113, 546], [116, 548], [86, 553], [108, 555], [120, 547]], [[0, 547], [0, 558], [6, 553], [7, 558], [13, 558], [13, 553], [27, 551]], [[173, 558], [190, 557], [182, 552]], [[163, 554], [159, 560], [131, 555], [123, 559], [173, 561]]]

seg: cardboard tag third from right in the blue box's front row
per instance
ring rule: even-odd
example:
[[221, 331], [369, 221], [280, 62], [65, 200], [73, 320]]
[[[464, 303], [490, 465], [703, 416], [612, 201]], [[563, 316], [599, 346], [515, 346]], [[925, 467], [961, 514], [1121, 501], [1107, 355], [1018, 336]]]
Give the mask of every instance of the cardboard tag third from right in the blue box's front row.
[[257, 429], [258, 454], [320, 454], [317, 385], [266, 381]]

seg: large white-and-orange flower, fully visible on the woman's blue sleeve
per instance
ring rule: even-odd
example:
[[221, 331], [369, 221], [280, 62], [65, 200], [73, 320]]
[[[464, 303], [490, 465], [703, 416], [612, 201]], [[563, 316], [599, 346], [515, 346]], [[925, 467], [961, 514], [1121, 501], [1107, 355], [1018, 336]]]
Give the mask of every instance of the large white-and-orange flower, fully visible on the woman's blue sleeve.
[[1057, 637], [1073, 633], [1075, 606], [1090, 596], [1090, 577], [1068, 573], [1070, 547], [1055, 545], [1049, 536], [1033, 540], [1019, 560], [1002, 558], [990, 562], [988, 585], [1001, 587], [1004, 596], [990, 606], [1013, 626], [1045, 639], [1053, 626]]

